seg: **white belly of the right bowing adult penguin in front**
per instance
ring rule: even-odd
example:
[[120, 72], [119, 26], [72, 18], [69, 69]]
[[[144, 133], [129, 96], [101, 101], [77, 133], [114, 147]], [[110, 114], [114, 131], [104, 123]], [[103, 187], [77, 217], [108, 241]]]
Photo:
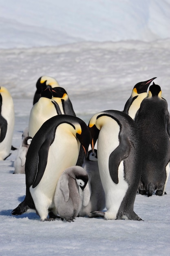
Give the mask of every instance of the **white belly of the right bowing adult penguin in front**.
[[108, 168], [110, 154], [119, 146], [119, 131], [120, 127], [117, 122], [111, 120], [102, 127], [98, 137], [99, 173], [105, 192], [106, 208], [108, 209], [105, 213], [106, 219], [116, 219], [119, 207], [128, 189], [128, 184], [124, 180], [123, 161], [121, 161], [118, 168], [118, 184], [113, 182]]

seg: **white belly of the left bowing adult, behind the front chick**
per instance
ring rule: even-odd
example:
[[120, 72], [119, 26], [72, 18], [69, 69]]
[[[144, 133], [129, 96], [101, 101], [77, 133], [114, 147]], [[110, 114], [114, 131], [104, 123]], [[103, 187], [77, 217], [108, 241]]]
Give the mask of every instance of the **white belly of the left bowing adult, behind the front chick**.
[[38, 186], [30, 187], [30, 193], [41, 220], [48, 216], [48, 209], [53, 203], [53, 196], [60, 175], [66, 168], [76, 164], [79, 154], [80, 144], [77, 144], [77, 139], [67, 134], [63, 138], [62, 135], [62, 125], [60, 125], [55, 132], [55, 140], [49, 148], [44, 175]]

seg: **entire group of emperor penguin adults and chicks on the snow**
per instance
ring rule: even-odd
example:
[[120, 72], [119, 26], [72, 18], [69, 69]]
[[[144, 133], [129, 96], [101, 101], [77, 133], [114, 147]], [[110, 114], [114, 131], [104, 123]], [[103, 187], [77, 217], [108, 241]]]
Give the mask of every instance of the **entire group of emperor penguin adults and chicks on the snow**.
[[[166, 194], [170, 171], [170, 115], [154, 79], [134, 86], [123, 111], [96, 113], [86, 125], [65, 89], [40, 77], [14, 162], [14, 173], [25, 173], [26, 195], [11, 214], [141, 220], [136, 194]], [[13, 148], [13, 127], [13, 101], [0, 87], [0, 160]]]

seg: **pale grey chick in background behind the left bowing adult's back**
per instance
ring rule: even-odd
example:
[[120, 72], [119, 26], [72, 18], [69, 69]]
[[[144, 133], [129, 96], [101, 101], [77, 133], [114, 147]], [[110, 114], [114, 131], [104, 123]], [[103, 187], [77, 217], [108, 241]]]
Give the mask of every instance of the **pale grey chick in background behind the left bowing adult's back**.
[[28, 127], [25, 128], [22, 134], [22, 142], [20, 147], [18, 148], [18, 152], [14, 161], [14, 173], [25, 173], [25, 161], [26, 161], [26, 154], [31, 144], [32, 137], [28, 136]]

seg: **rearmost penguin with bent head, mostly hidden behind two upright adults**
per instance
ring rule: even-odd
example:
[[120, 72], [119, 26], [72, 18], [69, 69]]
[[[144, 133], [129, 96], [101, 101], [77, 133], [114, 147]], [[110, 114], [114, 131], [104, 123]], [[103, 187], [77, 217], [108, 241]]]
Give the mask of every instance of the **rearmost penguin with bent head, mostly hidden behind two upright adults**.
[[34, 94], [33, 105], [40, 99], [41, 91], [45, 89], [47, 85], [51, 86], [52, 88], [60, 86], [59, 83], [53, 77], [41, 76], [36, 83], [37, 90]]

